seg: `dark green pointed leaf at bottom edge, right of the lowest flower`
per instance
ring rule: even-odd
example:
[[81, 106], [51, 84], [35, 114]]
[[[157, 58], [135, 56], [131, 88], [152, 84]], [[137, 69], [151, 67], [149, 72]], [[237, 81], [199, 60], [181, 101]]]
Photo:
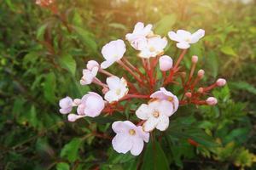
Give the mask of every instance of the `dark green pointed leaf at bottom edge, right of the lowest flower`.
[[160, 144], [154, 140], [149, 142], [143, 159], [143, 170], [167, 170], [169, 163]]

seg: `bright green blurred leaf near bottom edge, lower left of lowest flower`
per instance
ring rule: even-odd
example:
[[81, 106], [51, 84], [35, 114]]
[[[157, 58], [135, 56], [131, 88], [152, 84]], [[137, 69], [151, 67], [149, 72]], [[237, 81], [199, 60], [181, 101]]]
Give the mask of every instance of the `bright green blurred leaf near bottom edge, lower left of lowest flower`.
[[61, 157], [67, 158], [68, 161], [76, 161], [79, 158], [79, 148], [82, 145], [82, 139], [74, 138], [65, 144], [61, 150]]

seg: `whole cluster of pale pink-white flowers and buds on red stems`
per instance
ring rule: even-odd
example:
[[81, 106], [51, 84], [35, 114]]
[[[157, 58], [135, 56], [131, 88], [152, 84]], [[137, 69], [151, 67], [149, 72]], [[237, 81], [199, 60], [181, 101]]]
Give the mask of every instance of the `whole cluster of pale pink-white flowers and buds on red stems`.
[[[197, 87], [205, 74], [205, 71], [199, 70], [194, 76], [195, 65], [198, 62], [197, 56], [192, 56], [188, 76], [180, 66], [187, 48], [198, 42], [204, 34], [205, 31], [201, 29], [193, 34], [183, 30], [170, 31], [169, 38], [177, 42], [177, 48], [182, 49], [177, 61], [173, 63], [170, 56], [164, 55], [167, 38], [154, 34], [152, 25], [144, 26], [141, 22], [137, 23], [132, 33], [128, 33], [125, 38], [130, 42], [131, 47], [138, 51], [137, 56], [142, 60], [142, 64], [132, 65], [124, 56], [126, 47], [123, 40], [108, 42], [102, 47], [102, 56], [105, 60], [101, 64], [90, 60], [80, 79], [81, 85], [95, 83], [102, 87], [104, 99], [102, 95], [94, 92], [85, 94], [82, 99], [66, 97], [59, 103], [61, 114], [68, 114], [67, 118], [70, 122], [84, 116], [100, 116], [102, 113], [111, 116], [114, 111], [125, 111], [126, 108], [120, 105], [121, 102], [141, 99], [141, 105], [133, 111], [138, 118], [137, 122], [118, 121], [112, 124], [113, 132], [116, 133], [112, 140], [113, 149], [119, 153], [131, 151], [132, 155], [139, 155], [143, 150], [144, 142], [148, 143], [149, 133], [155, 128], [165, 131], [169, 126], [170, 116], [177, 111], [179, 106], [217, 104], [217, 99], [205, 96], [212, 88], [224, 86], [226, 81], [220, 78], [208, 87]], [[132, 77], [131, 81], [107, 71], [108, 67], [115, 63], [129, 72], [128, 76]], [[158, 69], [162, 74], [160, 78], [156, 75]], [[100, 73], [107, 76], [105, 82], [97, 78]], [[182, 93], [172, 94], [168, 90], [172, 84], [181, 87]], [[72, 113], [73, 107], [77, 107], [76, 114]]]

